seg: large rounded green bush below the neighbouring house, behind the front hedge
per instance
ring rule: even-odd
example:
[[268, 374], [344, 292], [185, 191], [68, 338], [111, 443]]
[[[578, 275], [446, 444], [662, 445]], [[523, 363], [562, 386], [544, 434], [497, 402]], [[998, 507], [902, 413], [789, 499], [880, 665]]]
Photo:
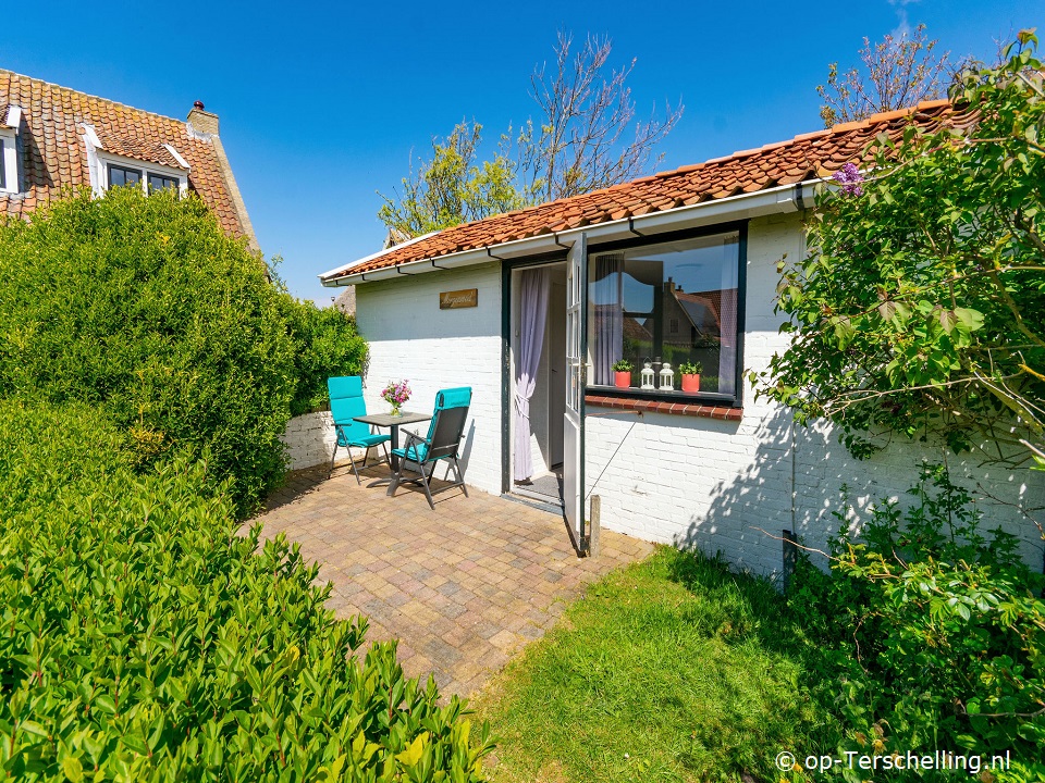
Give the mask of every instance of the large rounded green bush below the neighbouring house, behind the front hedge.
[[272, 285], [197, 198], [57, 202], [0, 225], [0, 397], [101, 406], [145, 464], [206, 450], [241, 513], [282, 474], [292, 403], [316, 397], [324, 362], [366, 350]]

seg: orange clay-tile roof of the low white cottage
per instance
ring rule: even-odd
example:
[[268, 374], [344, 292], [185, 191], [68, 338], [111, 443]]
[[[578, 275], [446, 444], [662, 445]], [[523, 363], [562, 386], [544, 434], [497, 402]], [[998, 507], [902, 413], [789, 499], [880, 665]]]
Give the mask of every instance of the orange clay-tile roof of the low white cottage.
[[859, 122], [802, 134], [788, 141], [465, 223], [321, 276], [329, 283], [411, 261], [820, 179], [859, 159], [878, 134], [899, 139], [903, 128], [912, 122], [932, 126], [941, 122], [962, 125], [972, 121], [968, 115], [956, 113], [948, 101], [925, 101], [910, 109], [874, 114]]

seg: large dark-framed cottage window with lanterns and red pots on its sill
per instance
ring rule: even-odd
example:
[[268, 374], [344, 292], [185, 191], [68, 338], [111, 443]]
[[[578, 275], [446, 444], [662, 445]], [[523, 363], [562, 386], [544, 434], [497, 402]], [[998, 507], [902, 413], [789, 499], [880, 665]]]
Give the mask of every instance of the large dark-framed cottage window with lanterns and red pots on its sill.
[[[737, 396], [740, 233], [593, 250], [588, 259], [590, 385], [622, 388], [613, 365], [634, 366], [628, 387], [681, 390], [683, 364], [702, 366], [699, 394]], [[649, 362], [656, 377], [643, 384]], [[661, 377], [671, 365], [668, 384]], [[644, 386], [644, 388], [643, 388]]]

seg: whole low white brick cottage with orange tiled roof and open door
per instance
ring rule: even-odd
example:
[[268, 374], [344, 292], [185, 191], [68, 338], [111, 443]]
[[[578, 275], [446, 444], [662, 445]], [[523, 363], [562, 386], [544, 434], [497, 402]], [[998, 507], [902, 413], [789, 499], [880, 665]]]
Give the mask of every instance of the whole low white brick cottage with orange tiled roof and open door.
[[[410, 381], [416, 410], [430, 410], [440, 388], [471, 386], [469, 485], [533, 498], [557, 478], [581, 544], [599, 496], [606, 529], [773, 574], [783, 531], [822, 547], [837, 530], [843, 485], [859, 524], [869, 502], [905, 500], [922, 459], [947, 459], [988, 526], [1018, 535], [1040, 566], [1024, 513], [1045, 506], [1045, 474], [896, 440], [858, 461], [829, 426], [796, 426], [745, 380], [787, 346], [773, 312], [776, 264], [804, 251], [814, 184], [876, 134], [949, 112], [933, 102], [875, 115], [451, 228], [321, 275], [356, 285], [369, 409], [388, 407], [379, 391], [390, 380]], [[474, 306], [445, 307], [446, 294], [463, 291]], [[611, 371], [620, 359], [638, 365], [624, 388]], [[646, 361], [674, 364], [654, 382], [663, 388], [642, 388]], [[679, 362], [703, 364], [699, 393], [680, 390]]]

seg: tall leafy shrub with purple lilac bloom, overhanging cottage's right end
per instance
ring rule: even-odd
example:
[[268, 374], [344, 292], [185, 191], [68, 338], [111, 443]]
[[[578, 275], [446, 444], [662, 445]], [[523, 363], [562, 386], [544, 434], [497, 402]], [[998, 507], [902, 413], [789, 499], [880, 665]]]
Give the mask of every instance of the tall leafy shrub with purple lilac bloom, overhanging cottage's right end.
[[808, 254], [780, 261], [791, 336], [750, 376], [755, 397], [831, 420], [860, 458], [883, 432], [936, 435], [955, 452], [989, 444], [992, 461], [1013, 427], [1012, 440], [1045, 448], [1037, 45], [1021, 30], [994, 66], [955, 74], [954, 122], [912, 115], [901, 137], [852, 150], [834, 195], [816, 198]]

